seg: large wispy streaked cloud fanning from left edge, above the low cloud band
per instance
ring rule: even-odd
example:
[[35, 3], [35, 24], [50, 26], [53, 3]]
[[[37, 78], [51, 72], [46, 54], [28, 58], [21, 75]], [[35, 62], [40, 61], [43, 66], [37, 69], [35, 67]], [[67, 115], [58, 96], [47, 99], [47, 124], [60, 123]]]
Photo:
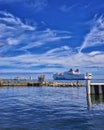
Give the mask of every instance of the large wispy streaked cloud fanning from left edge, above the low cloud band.
[[[50, 42], [71, 38], [68, 31], [52, 30], [50, 28], [40, 31], [38, 26], [26, 24], [20, 18], [3, 11], [0, 11], [0, 28], [0, 46], [21, 44], [21, 47], [16, 49], [23, 51]], [[0, 52], [3, 52], [3, 49]]]

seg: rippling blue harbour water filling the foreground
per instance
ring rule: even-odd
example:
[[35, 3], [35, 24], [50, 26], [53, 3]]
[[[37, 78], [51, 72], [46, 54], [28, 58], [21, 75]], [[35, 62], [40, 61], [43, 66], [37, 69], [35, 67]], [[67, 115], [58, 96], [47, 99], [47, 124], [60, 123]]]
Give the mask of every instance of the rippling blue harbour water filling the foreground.
[[0, 130], [104, 130], [104, 97], [85, 87], [0, 88]]

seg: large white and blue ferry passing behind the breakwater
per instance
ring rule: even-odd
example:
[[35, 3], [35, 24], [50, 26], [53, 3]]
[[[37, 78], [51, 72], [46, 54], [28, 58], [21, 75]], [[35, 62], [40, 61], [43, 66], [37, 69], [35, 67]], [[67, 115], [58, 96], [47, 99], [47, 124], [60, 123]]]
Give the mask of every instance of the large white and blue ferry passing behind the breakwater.
[[65, 71], [63, 73], [55, 73], [53, 74], [54, 80], [86, 80], [92, 79], [91, 73], [82, 74], [79, 69], [75, 71], [70, 69], [69, 71]]

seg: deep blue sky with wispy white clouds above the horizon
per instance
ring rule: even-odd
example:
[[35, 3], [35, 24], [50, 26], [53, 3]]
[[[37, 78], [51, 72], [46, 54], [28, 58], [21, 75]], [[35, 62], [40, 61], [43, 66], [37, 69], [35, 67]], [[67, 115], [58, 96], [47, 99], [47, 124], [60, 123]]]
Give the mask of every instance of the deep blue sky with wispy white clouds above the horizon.
[[104, 70], [103, 0], [0, 0], [0, 71]]

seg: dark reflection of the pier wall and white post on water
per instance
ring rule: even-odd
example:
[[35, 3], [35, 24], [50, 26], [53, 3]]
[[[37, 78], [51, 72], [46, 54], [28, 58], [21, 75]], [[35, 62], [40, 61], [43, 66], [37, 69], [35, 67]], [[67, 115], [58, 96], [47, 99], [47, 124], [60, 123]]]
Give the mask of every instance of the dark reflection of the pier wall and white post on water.
[[103, 109], [104, 110], [104, 95], [87, 95], [88, 109]]

